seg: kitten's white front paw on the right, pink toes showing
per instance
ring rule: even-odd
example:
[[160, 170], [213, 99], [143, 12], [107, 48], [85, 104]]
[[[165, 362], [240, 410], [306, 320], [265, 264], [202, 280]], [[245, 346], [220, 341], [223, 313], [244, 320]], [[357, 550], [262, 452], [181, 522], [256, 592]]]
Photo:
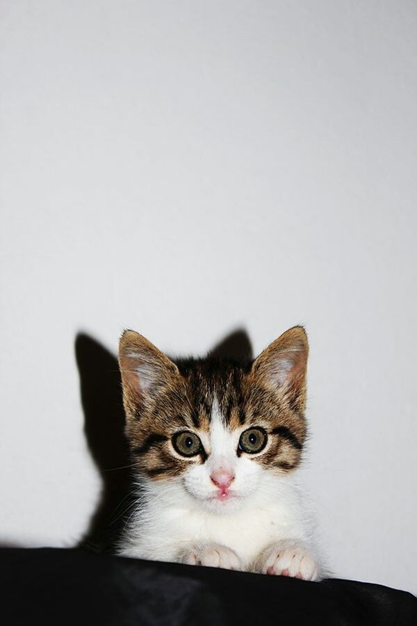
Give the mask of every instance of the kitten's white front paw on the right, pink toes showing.
[[276, 543], [268, 547], [259, 559], [258, 571], [272, 576], [289, 576], [302, 580], [317, 580], [318, 565], [302, 545]]

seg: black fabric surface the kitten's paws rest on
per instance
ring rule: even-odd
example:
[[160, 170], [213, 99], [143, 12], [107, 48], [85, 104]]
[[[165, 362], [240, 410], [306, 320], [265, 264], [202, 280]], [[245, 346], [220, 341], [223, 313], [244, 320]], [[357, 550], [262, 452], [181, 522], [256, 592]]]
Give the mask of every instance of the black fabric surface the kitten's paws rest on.
[[31, 625], [417, 625], [410, 593], [93, 554], [0, 550], [0, 623]]

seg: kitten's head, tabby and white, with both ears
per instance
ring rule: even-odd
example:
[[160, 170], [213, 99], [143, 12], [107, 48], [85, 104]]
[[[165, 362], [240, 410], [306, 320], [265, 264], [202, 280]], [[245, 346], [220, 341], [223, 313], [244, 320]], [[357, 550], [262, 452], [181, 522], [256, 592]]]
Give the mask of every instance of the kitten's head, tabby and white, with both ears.
[[208, 355], [174, 363], [126, 330], [119, 362], [133, 465], [208, 510], [236, 510], [266, 476], [300, 463], [308, 351], [296, 326], [253, 362]]

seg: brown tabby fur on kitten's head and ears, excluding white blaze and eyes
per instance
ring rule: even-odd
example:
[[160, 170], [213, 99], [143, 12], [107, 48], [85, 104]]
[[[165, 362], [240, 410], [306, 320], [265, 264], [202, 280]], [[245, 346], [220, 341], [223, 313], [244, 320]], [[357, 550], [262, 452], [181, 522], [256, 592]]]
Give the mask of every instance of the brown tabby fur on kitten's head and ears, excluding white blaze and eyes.
[[295, 326], [253, 363], [208, 356], [174, 364], [145, 337], [126, 330], [120, 371], [133, 463], [154, 480], [177, 476], [189, 463], [204, 463], [209, 449], [183, 458], [171, 438], [179, 431], [208, 433], [216, 399], [228, 428], [262, 426], [268, 433], [265, 449], [250, 455], [254, 462], [273, 472], [293, 470], [306, 436], [308, 351], [304, 329]]

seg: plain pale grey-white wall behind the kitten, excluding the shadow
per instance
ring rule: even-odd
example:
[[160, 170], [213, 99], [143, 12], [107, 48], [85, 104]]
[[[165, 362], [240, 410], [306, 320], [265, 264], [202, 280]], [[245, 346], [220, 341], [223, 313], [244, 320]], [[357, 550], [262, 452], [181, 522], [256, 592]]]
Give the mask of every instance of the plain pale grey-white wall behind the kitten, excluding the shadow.
[[0, 6], [3, 543], [95, 510], [77, 332], [258, 353], [304, 323], [329, 562], [417, 591], [417, 4]]

